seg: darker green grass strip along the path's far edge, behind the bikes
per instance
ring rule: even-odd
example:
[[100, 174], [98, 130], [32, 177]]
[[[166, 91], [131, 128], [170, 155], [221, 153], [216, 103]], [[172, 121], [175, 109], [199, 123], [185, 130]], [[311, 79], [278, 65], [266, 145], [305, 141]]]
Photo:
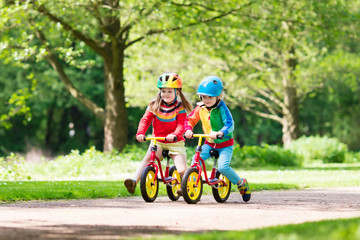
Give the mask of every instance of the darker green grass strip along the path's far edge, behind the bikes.
[[[286, 184], [253, 184], [254, 191], [262, 189], [291, 189]], [[237, 191], [233, 187], [234, 191]], [[211, 188], [204, 185], [204, 194], [211, 194]], [[141, 196], [137, 187], [131, 195], [123, 181], [3, 181], [0, 182], [0, 201], [94, 199]], [[167, 196], [166, 187], [160, 183], [159, 196]]]

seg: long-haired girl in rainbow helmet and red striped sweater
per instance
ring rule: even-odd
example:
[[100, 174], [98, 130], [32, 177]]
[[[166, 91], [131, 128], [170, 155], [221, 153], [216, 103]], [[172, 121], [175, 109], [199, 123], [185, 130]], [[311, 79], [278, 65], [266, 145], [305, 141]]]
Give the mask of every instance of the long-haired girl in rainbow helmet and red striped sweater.
[[[163, 150], [169, 150], [176, 169], [182, 177], [187, 169], [184, 134], [184, 121], [186, 111], [191, 112], [192, 106], [181, 92], [182, 81], [176, 73], [164, 73], [158, 79], [157, 87], [160, 89], [156, 99], [152, 100], [141, 118], [136, 133], [136, 140], [143, 142], [150, 125], [153, 127], [153, 136], [166, 137], [166, 141], [157, 141], [156, 156], [161, 157]], [[178, 100], [180, 96], [181, 101]], [[176, 142], [175, 142], [176, 139]], [[149, 149], [137, 168], [134, 178], [125, 179], [124, 184], [129, 193], [134, 193], [141, 173], [150, 161]]]

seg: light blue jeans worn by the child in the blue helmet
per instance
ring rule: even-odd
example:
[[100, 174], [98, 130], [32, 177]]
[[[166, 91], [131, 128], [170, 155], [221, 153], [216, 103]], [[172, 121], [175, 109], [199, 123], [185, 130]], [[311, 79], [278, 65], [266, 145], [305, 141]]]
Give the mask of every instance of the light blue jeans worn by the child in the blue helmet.
[[[210, 150], [215, 149], [219, 152], [219, 159], [218, 159], [218, 170], [221, 174], [226, 176], [230, 182], [233, 184], [237, 184], [240, 181], [239, 175], [230, 167], [231, 157], [233, 154], [233, 146], [224, 147], [224, 148], [212, 148], [207, 144], [202, 146], [202, 151], [200, 153], [200, 157], [206, 161], [210, 158]], [[192, 160], [194, 163], [194, 157]]]

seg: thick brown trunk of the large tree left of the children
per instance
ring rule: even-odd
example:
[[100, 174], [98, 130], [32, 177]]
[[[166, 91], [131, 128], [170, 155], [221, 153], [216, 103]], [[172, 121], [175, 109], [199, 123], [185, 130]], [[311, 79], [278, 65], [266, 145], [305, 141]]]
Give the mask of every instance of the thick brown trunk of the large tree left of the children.
[[123, 52], [117, 59], [105, 59], [104, 151], [121, 151], [128, 142], [128, 117], [125, 103]]

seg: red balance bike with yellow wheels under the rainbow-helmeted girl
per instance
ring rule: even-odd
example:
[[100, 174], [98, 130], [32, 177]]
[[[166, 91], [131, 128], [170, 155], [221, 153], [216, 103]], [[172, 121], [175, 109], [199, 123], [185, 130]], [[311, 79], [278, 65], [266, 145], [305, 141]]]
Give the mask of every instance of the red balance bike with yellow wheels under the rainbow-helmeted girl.
[[[155, 201], [159, 192], [159, 178], [160, 173], [161, 181], [166, 184], [166, 191], [169, 198], [172, 201], [176, 201], [180, 196], [176, 193], [176, 190], [180, 189], [181, 177], [176, 166], [170, 167], [170, 156], [169, 151], [164, 150], [162, 152], [163, 158], [166, 158], [165, 173], [163, 173], [161, 167], [161, 159], [156, 156], [157, 140], [166, 140], [165, 137], [146, 137], [145, 140], [153, 140], [153, 146], [151, 147], [150, 163], [145, 167], [140, 178], [140, 190], [143, 199], [146, 202]], [[176, 141], [176, 140], [175, 140]]]

